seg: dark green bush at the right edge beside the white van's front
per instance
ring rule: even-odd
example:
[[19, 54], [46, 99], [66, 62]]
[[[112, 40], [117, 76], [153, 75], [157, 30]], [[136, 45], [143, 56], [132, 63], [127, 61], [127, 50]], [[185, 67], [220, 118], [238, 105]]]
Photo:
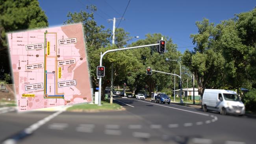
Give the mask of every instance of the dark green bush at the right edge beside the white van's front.
[[245, 108], [247, 111], [256, 112], [256, 89], [252, 89], [249, 92], [245, 93], [242, 101], [245, 104]]

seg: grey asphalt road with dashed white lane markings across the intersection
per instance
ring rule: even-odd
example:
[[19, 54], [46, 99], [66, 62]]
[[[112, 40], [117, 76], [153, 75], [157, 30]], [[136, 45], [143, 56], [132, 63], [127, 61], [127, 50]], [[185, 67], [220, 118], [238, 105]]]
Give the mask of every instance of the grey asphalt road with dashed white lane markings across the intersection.
[[[11, 144], [254, 144], [256, 119], [175, 104], [114, 98], [126, 110], [0, 114], [0, 141]], [[34, 124], [34, 125], [33, 125]], [[31, 135], [22, 131], [38, 126]], [[20, 133], [21, 132], [21, 133]]]

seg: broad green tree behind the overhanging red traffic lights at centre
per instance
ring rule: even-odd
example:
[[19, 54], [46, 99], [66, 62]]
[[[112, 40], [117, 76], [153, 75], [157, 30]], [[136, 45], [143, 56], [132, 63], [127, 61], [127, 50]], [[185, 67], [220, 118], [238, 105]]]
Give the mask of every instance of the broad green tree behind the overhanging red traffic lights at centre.
[[[178, 59], [180, 53], [176, 50], [176, 45], [173, 44], [171, 38], [165, 37], [160, 33], [147, 34], [146, 39], [132, 43], [132, 46], [158, 43], [161, 37], [163, 37], [163, 39], [167, 41], [166, 49], [168, 52], [164, 54], [158, 53], [157, 46], [133, 50], [133, 54], [141, 63], [141, 67], [139, 67], [137, 76], [134, 77], [135, 83], [133, 83], [132, 85], [136, 85], [137, 87], [142, 88], [144, 88], [145, 85], [148, 85], [149, 93], [154, 92], [156, 85], [158, 85], [159, 90], [165, 87], [172, 88], [173, 76], [156, 72], [153, 72], [151, 76], [148, 76], [146, 74], [146, 68], [150, 66], [153, 70], [173, 72], [174, 68], [178, 66], [177, 63], [169, 63], [168, 61], [165, 61], [165, 59], [166, 57], [168, 57], [169, 59]], [[139, 83], [137, 83], [138, 81]]]

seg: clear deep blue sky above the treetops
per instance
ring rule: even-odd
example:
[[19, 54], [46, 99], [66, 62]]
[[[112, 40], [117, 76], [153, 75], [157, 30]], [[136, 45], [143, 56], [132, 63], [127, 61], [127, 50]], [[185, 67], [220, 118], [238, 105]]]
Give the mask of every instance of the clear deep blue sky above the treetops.
[[[98, 11], [95, 20], [106, 29], [113, 29], [113, 21], [121, 18], [129, 0], [39, 0], [45, 11], [49, 26], [63, 25], [70, 11], [87, 11], [87, 5], [95, 5]], [[193, 50], [191, 34], [197, 33], [196, 21], [208, 18], [218, 24], [221, 20], [233, 18], [234, 14], [247, 12], [256, 6], [255, 0], [130, 0], [119, 28], [130, 36], [145, 39], [148, 33], [161, 33], [171, 37], [182, 53]], [[116, 22], [116, 26], [119, 20]], [[137, 41], [134, 38], [128, 43]]]

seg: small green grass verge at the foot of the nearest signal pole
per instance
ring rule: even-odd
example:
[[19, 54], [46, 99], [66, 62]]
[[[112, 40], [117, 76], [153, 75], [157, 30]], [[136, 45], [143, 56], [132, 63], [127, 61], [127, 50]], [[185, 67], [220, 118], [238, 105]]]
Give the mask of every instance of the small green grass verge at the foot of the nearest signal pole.
[[102, 111], [119, 111], [122, 106], [117, 103], [110, 104], [109, 101], [101, 101], [102, 105], [81, 103], [69, 107], [67, 111], [73, 112], [102, 112]]

